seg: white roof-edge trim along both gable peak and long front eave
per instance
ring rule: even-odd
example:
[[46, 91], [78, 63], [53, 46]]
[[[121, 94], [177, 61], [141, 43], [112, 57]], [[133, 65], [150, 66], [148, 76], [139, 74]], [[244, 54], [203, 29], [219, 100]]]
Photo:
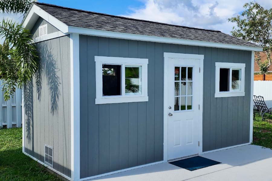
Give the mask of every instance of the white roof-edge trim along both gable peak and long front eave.
[[53, 17], [46, 11], [42, 10], [35, 4], [31, 5], [30, 10], [28, 11], [27, 15], [25, 16], [23, 20], [23, 26], [28, 29], [32, 28], [39, 16], [42, 17], [47, 22], [49, 22], [50, 24], [52, 24], [54, 27], [56, 27], [60, 31], [62, 31], [63, 33], [78, 33], [78, 34], [92, 35], [92, 36], [99, 36], [99, 37], [151, 41], [151, 42], [158, 42], [158, 43], [174, 43], [174, 44], [192, 45], [192, 46], [207, 46], [207, 47], [215, 47], [215, 48], [263, 51], [263, 48], [254, 47], [254, 46], [242, 46], [242, 45], [233, 45], [233, 44], [227, 44], [227, 43], [214, 43], [214, 42], [206, 42], [206, 41], [199, 41], [199, 40], [185, 40], [185, 39], [178, 39], [178, 38], [158, 37], [158, 36], [150, 36], [150, 35], [121, 33], [121, 32], [113, 32], [113, 31], [106, 31], [106, 30], [95, 30], [91, 28], [67, 26], [66, 24], [64, 24], [57, 18]]

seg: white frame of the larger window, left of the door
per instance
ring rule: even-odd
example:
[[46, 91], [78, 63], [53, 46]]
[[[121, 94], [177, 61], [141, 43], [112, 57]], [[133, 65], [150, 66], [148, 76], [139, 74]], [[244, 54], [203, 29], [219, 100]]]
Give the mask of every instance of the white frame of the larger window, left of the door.
[[[96, 62], [96, 104], [145, 102], [147, 96], [147, 64], [148, 59], [95, 56]], [[121, 65], [121, 95], [103, 96], [102, 64]], [[142, 67], [142, 94], [125, 95], [125, 66]]]

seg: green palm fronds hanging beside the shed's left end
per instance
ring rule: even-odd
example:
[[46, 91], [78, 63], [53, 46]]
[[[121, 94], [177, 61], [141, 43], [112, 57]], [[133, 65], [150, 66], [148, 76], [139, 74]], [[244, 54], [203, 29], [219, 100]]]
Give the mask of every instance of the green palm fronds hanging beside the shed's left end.
[[[24, 16], [33, 0], [0, 0], [0, 13], [22, 14]], [[3, 19], [0, 24], [0, 79], [5, 101], [13, 97], [16, 87], [31, 80], [38, 68], [36, 46], [29, 30], [22, 24]]]

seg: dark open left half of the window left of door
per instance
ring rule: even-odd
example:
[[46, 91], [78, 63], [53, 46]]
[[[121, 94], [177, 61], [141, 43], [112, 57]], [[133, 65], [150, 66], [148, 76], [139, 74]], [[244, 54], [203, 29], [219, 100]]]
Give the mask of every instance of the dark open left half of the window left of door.
[[121, 65], [102, 65], [103, 96], [121, 95]]

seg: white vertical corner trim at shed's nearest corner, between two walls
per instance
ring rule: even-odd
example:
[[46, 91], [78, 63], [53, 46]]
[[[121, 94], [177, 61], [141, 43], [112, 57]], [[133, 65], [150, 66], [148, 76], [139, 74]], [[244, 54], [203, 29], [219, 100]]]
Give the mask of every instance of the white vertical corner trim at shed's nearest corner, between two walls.
[[79, 34], [70, 34], [71, 179], [80, 178]]

